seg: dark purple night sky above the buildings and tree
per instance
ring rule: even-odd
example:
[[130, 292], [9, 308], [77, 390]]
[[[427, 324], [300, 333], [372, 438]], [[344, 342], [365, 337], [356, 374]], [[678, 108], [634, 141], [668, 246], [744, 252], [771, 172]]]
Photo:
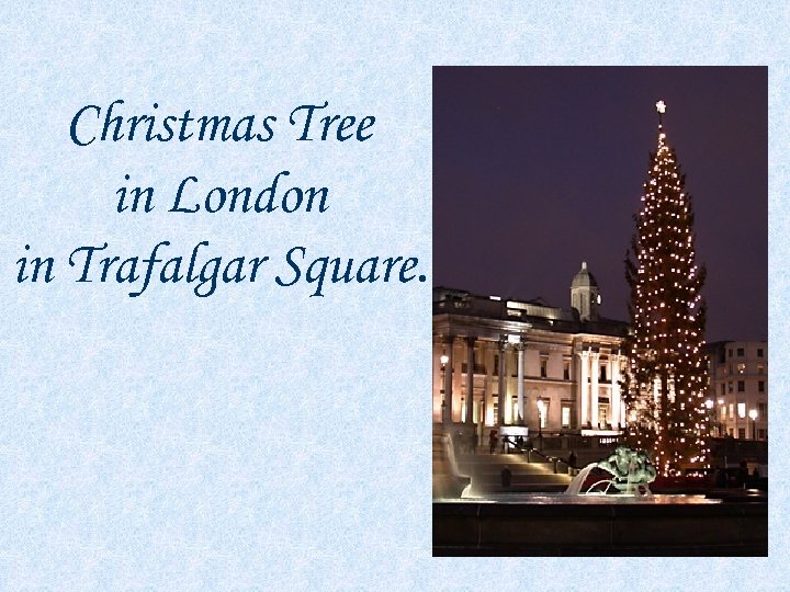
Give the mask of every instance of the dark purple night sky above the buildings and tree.
[[708, 267], [707, 340], [768, 337], [766, 68], [435, 68], [433, 284], [569, 308], [582, 261], [628, 320], [655, 103]]

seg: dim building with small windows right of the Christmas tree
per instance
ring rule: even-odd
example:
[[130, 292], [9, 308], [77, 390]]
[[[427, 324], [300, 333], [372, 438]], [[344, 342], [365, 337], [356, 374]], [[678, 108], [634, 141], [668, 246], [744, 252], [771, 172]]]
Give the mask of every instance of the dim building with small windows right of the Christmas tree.
[[740, 440], [768, 439], [768, 343], [708, 344], [711, 433]]

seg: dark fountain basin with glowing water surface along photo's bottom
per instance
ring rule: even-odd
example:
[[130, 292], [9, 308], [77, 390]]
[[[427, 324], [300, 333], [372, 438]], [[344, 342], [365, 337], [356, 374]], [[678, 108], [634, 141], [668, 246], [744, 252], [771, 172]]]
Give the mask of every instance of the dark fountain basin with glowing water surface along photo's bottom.
[[766, 498], [507, 496], [433, 503], [435, 556], [767, 556]]

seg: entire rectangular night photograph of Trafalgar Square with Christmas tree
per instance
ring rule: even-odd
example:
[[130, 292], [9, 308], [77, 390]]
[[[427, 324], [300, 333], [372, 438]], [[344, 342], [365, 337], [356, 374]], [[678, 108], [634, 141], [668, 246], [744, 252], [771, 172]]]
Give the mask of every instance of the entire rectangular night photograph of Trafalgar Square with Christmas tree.
[[435, 556], [767, 556], [768, 71], [435, 67]]

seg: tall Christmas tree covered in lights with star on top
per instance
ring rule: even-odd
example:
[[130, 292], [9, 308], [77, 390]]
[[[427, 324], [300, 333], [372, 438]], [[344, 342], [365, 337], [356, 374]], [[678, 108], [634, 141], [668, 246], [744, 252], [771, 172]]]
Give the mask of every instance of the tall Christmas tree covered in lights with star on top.
[[630, 444], [648, 451], [662, 475], [677, 476], [690, 464], [708, 466], [710, 458], [700, 295], [706, 271], [695, 262], [691, 197], [662, 126], [664, 102], [656, 109], [658, 149], [651, 155], [625, 258], [632, 332], [623, 390]]

